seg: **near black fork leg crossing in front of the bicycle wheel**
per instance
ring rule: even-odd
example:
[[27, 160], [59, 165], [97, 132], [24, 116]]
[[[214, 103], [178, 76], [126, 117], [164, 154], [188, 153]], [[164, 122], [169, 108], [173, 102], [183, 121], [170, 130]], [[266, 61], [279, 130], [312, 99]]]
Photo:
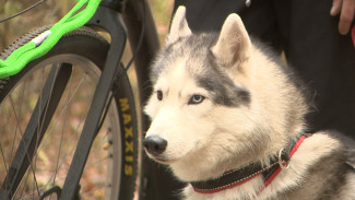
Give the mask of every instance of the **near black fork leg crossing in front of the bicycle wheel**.
[[[78, 196], [79, 181], [92, 143], [96, 137], [97, 126], [106, 106], [117, 69], [119, 69], [118, 66], [126, 45], [127, 34], [125, 26], [121, 23], [121, 14], [118, 14], [117, 11], [111, 8], [100, 5], [94, 19], [95, 25], [108, 31], [111, 35], [111, 42], [107, 55], [107, 61], [98, 80], [92, 105], [62, 188], [60, 200], [75, 199]], [[120, 37], [115, 37], [116, 35], [119, 35]]]

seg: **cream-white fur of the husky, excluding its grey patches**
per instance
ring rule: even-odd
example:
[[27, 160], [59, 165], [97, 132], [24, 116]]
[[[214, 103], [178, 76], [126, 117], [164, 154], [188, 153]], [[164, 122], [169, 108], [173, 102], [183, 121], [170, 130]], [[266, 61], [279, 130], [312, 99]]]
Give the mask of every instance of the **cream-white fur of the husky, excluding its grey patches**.
[[[177, 10], [166, 45], [192, 35], [185, 12], [184, 7]], [[268, 165], [269, 158], [284, 148], [289, 138], [304, 130], [307, 106], [300, 92], [288, 84], [287, 75], [277, 63], [251, 44], [237, 14], [227, 17], [211, 51], [221, 66], [229, 66], [224, 71], [235, 84], [250, 91], [252, 101], [248, 106], [214, 104], [210, 91], [199, 86], [191, 77], [201, 73], [203, 66], [197, 58], [193, 68], [188, 68], [191, 58], [186, 57], [169, 60], [154, 84], [154, 91], [163, 92], [163, 101], [158, 101], [154, 93], [145, 106], [145, 113], [152, 118], [146, 137], [156, 136], [168, 143], [162, 155], [149, 155], [169, 165], [176, 177], [184, 181], [215, 178], [255, 161]], [[194, 94], [205, 96], [203, 103], [189, 105]], [[292, 126], [285, 120], [289, 107], [297, 110], [293, 114]], [[321, 132], [306, 139], [292, 157], [289, 168], [283, 169], [260, 193], [263, 180], [256, 177], [232, 189], [209, 195], [198, 193], [188, 186], [184, 195], [189, 200], [303, 199], [300, 195], [281, 193], [300, 185], [311, 166], [341, 146], [339, 140]], [[346, 190], [354, 190], [354, 175], [346, 181], [350, 183]], [[309, 197], [307, 193], [304, 199]], [[355, 195], [344, 192], [340, 198], [355, 199]]]

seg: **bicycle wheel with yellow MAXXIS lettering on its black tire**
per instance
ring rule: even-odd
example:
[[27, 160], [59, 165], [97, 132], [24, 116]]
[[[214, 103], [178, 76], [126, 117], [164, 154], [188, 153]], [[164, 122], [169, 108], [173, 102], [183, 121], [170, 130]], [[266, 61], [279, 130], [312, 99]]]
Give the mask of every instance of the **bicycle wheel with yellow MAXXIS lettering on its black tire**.
[[[46, 28], [19, 39], [2, 59]], [[80, 28], [19, 74], [0, 80], [0, 199], [39, 199], [51, 192], [48, 198], [55, 199], [55, 192], [60, 192], [108, 47], [94, 31]], [[58, 81], [49, 84], [47, 78], [60, 71], [67, 72], [57, 74]], [[58, 98], [55, 106], [43, 104], [46, 84], [62, 87], [59, 97], [54, 97], [57, 91], [49, 93], [48, 102]], [[129, 200], [134, 196], [139, 152], [134, 98], [126, 74], [116, 87], [80, 181], [82, 199]], [[45, 106], [40, 109], [40, 105]], [[42, 115], [36, 114], [36, 107]], [[36, 116], [40, 117], [33, 119]], [[36, 130], [27, 133], [33, 127]]]

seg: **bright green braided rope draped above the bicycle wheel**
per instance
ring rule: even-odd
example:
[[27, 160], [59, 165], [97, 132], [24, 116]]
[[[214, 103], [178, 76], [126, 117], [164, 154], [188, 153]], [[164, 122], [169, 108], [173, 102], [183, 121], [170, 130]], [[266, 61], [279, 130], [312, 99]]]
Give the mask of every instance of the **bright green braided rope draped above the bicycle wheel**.
[[[47, 54], [64, 34], [87, 23], [99, 3], [100, 0], [79, 0], [51, 28], [14, 50], [5, 60], [0, 59], [0, 79], [19, 73], [28, 62]], [[86, 8], [78, 12], [84, 5]]]

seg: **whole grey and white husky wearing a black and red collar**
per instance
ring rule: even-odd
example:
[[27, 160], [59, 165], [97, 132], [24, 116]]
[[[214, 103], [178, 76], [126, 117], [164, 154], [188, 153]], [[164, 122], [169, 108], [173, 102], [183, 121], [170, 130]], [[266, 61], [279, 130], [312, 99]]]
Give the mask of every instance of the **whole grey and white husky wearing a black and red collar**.
[[188, 186], [181, 199], [355, 199], [354, 143], [308, 134], [304, 86], [237, 14], [192, 34], [180, 7], [152, 66], [147, 155]]

